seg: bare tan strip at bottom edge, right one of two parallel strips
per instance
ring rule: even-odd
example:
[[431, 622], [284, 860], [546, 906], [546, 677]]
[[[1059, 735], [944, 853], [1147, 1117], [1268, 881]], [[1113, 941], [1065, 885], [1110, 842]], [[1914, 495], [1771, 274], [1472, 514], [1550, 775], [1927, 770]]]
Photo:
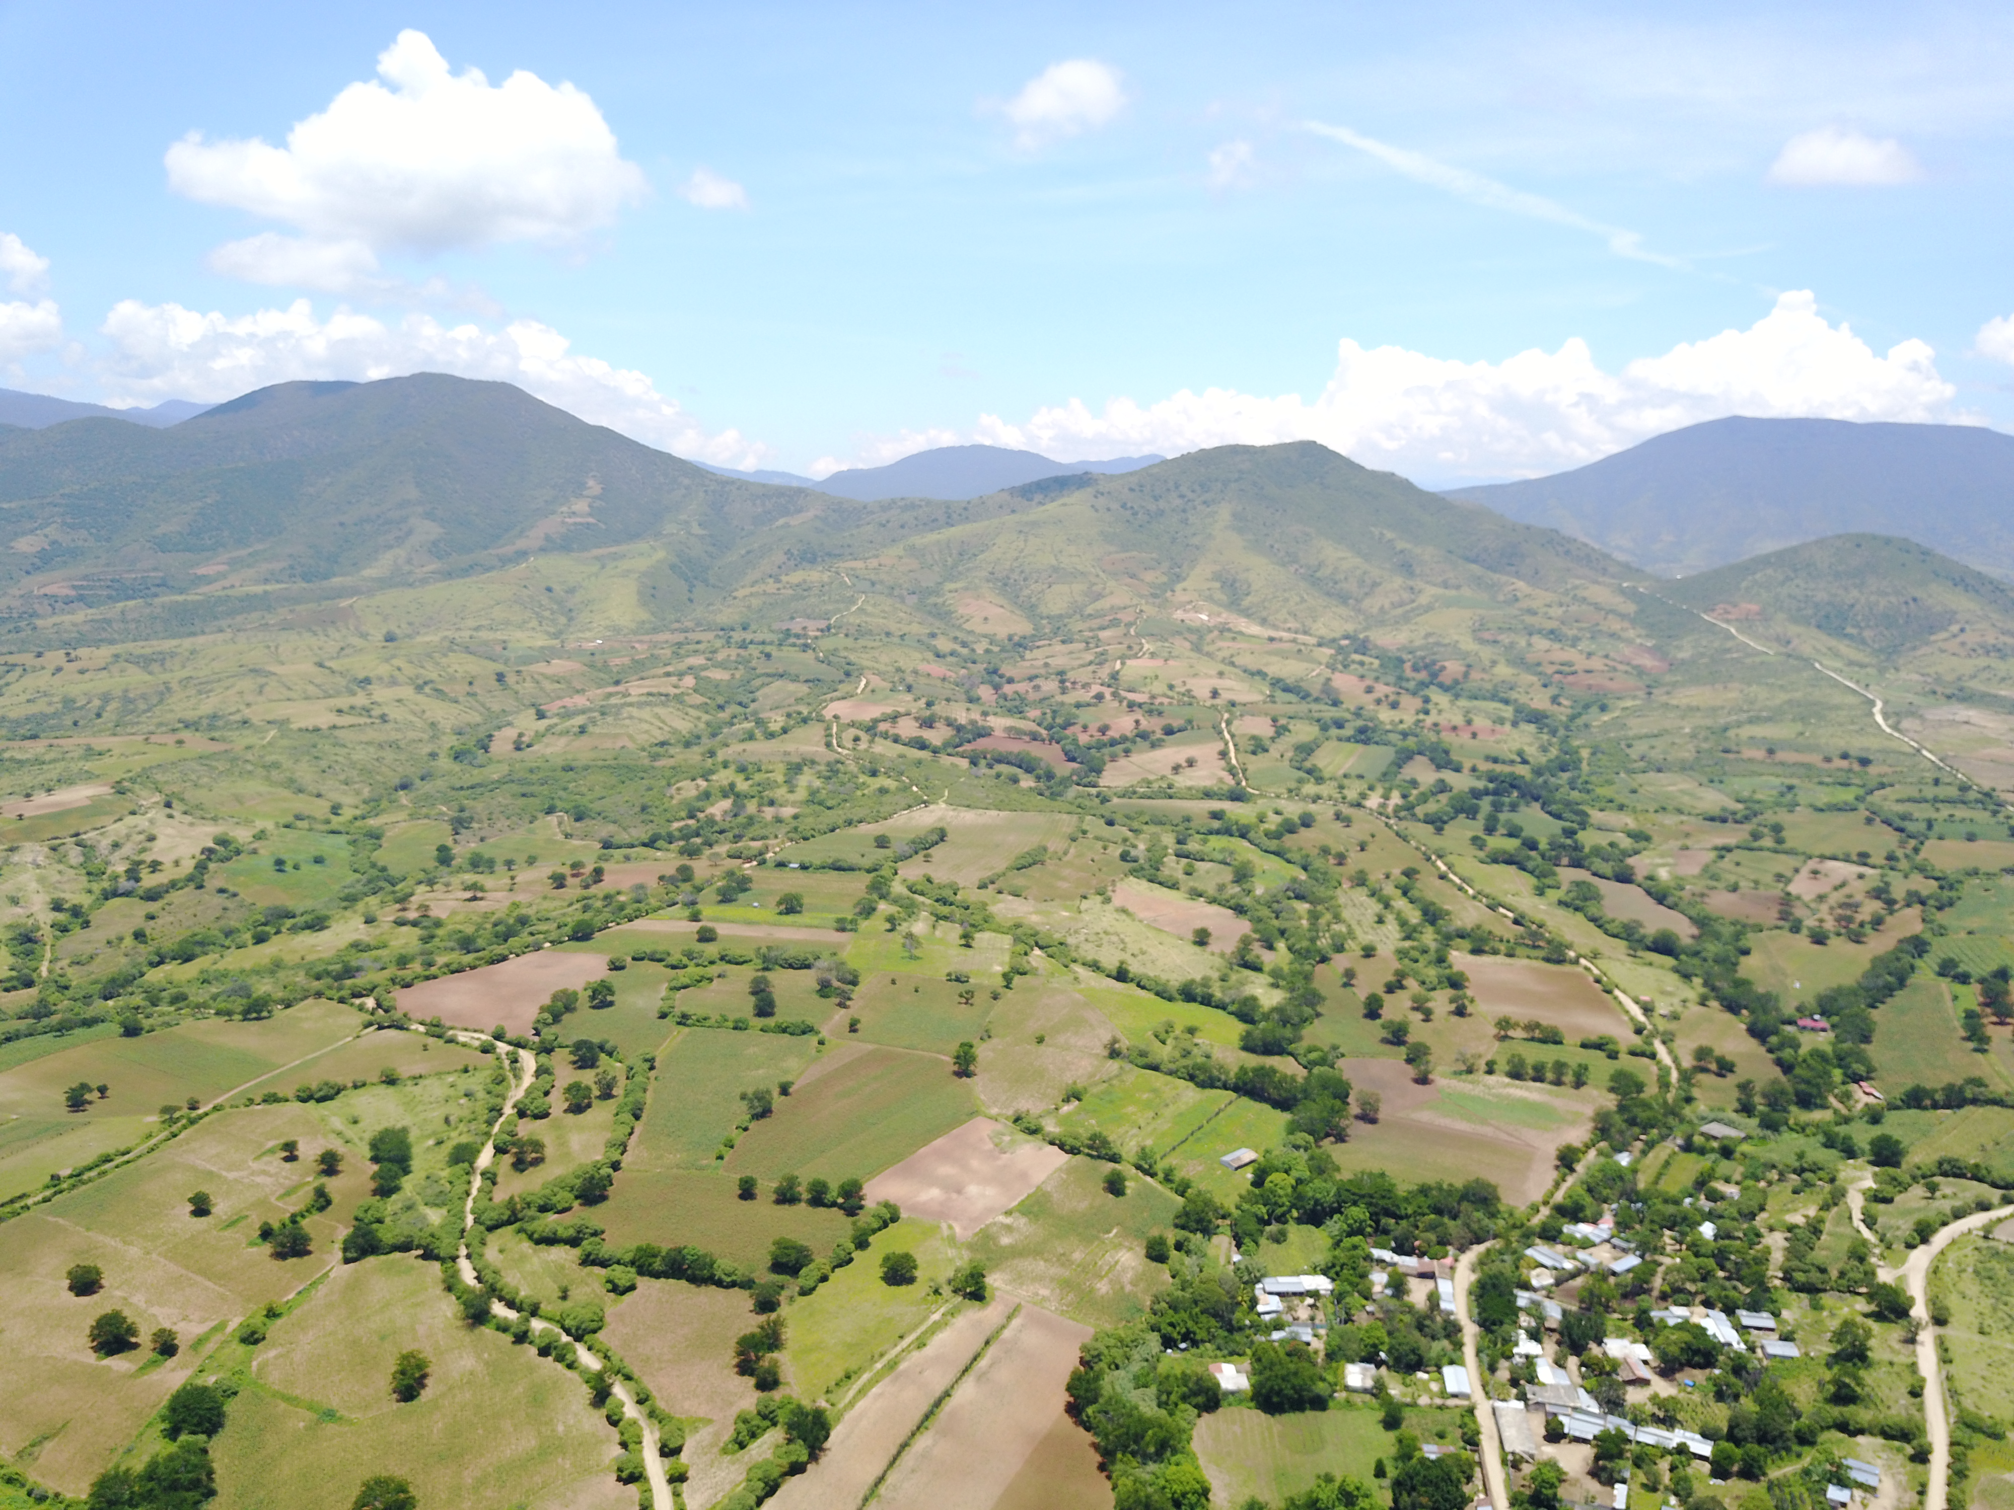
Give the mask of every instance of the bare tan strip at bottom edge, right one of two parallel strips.
[[[1065, 1419], [1063, 1383], [1090, 1335], [1090, 1327], [1021, 1307], [902, 1454], [880, 1502], [890, 1510], [993, 1510]], [[1100, 1478], [1096, 1466], [1092, 1476]]]

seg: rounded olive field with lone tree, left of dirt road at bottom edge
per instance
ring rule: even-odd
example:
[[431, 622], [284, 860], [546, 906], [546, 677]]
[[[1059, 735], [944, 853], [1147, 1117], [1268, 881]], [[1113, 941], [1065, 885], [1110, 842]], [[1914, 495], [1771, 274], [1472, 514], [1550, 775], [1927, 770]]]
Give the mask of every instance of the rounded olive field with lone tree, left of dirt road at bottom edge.
[[[393, 1401], [393, 1359], [419, 1349], [427, 1391]], [[367, 1474], [397, 1474], [421, 1504], [626, 1510], [614, 1429], [578, 1379], [530, 1347], [467, 1327], [429, 1264], [338, 1266], [252, 1359], [215, 1442], [218, 1510], [326, 1504]], [[495, 1423], [536, 1421], [497, 1433]]]

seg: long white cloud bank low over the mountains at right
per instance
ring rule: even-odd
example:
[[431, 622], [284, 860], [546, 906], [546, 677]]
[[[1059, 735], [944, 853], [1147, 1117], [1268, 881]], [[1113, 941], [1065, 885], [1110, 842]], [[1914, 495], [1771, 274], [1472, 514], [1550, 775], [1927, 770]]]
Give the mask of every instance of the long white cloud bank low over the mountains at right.
[[[2014, 350], [2014, 322], [2006, 342]], [[1921, 340], [1877, 356], [1847, 324], [1827, 324], [1809, 292], [1788, 292], [1746, 330], [1674, 346], [1621, 372], [1603, 372], [1579, 338], [1502, 362], [1365, 350], [1345, 338], [1313, 403], [1184, 389], [1150, 405], [1112, 399], [1094, 413], [1071, 399], [1019, 425], [983, 415], [969, 439], [1051, 457], [1305, 439], [1416, 477], [1504, 477], [1579, 467], [1726, 415], [1946, 421], [1956, 417], [1954, 395]]]

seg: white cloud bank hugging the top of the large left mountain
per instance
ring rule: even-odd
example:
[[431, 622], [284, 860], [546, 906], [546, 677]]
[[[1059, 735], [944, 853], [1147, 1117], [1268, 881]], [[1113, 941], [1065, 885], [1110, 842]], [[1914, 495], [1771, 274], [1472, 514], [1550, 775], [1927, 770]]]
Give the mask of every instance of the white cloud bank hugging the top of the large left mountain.
[[105, 316], [103, 334], [113, 346], [105, 387], [115, 401], [218, 403], [300, 379], [453, 372], [516, 383], [580, 419], [685, 457], [757, 467], [769, 451], [737, 431], [709, 433], [642, 372], [574, 354], [566, 336], [536, 320], [491, 330], [445, 326], [427, 314], [387, 324], [342, 308], [320, 320], [308, 300], [246, 316], [123, 300]]

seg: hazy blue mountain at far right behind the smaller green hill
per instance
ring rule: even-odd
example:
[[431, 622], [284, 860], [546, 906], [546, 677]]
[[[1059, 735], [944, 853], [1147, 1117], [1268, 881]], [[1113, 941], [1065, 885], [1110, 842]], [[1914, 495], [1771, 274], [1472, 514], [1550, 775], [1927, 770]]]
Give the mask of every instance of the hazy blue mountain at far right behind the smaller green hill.
[[1716, 419], [1553, 477], [1446, 491], [1664, 576], [1881, 534], [2014, 578], [2014, 437], [1976, 425]]

